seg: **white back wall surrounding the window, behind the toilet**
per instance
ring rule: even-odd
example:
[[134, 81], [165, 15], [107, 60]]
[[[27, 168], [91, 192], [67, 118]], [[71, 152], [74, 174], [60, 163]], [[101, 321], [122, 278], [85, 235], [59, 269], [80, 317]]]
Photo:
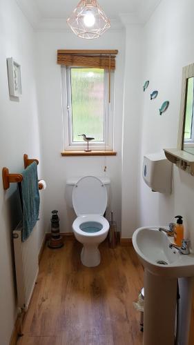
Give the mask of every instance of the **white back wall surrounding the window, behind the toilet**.
[[[72, 231], [75, 214], [66, 203], [66, 179], [84, 175], [106, 175], [111, 179], [111, 208], [121, 228], [122, 203], [122, 108], [124, 84], [124, 43], [122, 31], [109, 31], [93, 41], [79, 39], [72, 32], [37, 32], [37, 68], [43, 166], [47, 189], [44, 207], [45, 230], [50, 231], [50, 212], [59, 210], [61, 232]], [[115, 70], [114, 148], [117, 157], [61, 157], [64, 150], [61, 109], [61, 67], [57, 65], [57, 49], [118, 49]]]

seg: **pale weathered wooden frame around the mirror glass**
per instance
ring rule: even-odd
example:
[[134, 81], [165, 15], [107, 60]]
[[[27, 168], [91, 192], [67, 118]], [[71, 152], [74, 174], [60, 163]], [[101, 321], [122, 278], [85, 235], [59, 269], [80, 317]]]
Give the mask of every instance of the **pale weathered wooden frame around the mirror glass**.
[[188, 78], [192, 77], [194, 77], [194, 63], [191, 63], [191, 65], [185, 66], [182, 69], [182, 92], [180, 103], [180, 124], [177, 139], [177, 150], [184, 150], [184, 125], [186, 112], [187, 83]]

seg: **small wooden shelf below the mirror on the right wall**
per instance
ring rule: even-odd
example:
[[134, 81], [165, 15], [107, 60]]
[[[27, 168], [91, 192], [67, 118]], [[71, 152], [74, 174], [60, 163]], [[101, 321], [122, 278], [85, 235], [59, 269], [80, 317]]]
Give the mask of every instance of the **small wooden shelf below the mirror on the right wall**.
[[194, 155], [184, 150], [178, 150], [177, 148], [164, 148], [164, 153], [168, 161], [194, 175]]

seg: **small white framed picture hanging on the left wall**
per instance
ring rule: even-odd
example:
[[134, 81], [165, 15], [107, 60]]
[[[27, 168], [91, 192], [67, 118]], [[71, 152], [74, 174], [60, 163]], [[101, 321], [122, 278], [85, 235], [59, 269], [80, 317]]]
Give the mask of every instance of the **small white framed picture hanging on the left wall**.
[[21, 66], [12, 57], [7, 59], [10, 96], [21, 95]]

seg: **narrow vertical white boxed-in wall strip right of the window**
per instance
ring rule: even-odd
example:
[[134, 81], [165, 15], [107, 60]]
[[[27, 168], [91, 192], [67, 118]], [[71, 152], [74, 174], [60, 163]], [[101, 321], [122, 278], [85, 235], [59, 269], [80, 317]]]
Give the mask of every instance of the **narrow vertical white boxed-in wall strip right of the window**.
[[122, 157], [122, 238], [138, 223], [138, 170], [142, 110], [142, 26], [126, 25]]

